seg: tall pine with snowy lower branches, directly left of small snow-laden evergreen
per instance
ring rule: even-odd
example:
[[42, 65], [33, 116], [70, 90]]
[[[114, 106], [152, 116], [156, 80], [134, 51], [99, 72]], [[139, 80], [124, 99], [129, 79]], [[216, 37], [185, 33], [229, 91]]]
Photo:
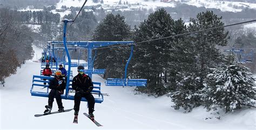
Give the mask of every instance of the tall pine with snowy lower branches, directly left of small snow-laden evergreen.
[[[211, 11], [199, 13], [197, 19], [191, 19], [192, 24], [188, 27], [188, 31], [223, 26], [224, 23], [220, 20], [221, 17]], [[175, 104], [173, 106], [175, 109], [183, 107], [190, 112], [193, 107], [203, 104], [201, 90], [205, 87], [206, 76], [221, 62], [221, 55], [215, 46], [226, 45], [227, 34], [224, 28], [219, 28], [194, 33], [187, 38], [188, 41], [183, 42], [185, 48], [180, 47], [183, 55], [179, 56], [180, 67], [177, 67], [181, 71], [177, 73], [177, 84], [173, 84], [174, 88], [169, 95]]]

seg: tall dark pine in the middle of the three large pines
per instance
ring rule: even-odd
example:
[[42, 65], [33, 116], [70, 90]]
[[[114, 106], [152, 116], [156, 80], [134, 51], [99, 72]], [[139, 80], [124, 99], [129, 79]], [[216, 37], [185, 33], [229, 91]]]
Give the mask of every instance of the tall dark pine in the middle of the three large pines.
[[[179, 22], [180, 24], [183, 23], [182, 20]], [[134, 41], [140, 42], [179, 34], [184, 30], [182, 27], [179, 28], [178, 25], [177, 22], [177, 28], [175, 28], [176, 21], [164, 9], [159, 9], [151, 13], [146, 20], [140, 23], [138, 28], [135, 28]], [[158, 96], [164, 95], [167, 92], [167, 88], [163, 83], [163, 81], [167, 82], [167, 80], [166, 78], [163, 79], [163, 74], [166, 77], [167, 71], [171, 71], [168, 68], [170, 68], [169, 63], [172, 60], [171, 55], [173, 53], [171, 49], [174, 44], [173, 41], [174, 39], [170, 38], [145, 42], [138, 44], [134, 50], [132, 76], [147, 79], [148, 93]], [[170, 74], [171, 72], [168, 73]]]

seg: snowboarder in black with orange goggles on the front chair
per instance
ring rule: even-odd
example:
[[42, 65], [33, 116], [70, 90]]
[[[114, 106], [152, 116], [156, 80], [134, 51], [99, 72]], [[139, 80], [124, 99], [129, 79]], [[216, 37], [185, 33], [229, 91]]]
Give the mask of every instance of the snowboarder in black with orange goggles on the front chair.
[[58, 112], [64, 112], [64, 107], [62, 105], [62, 97], [60, 95], [64, 93], [66, 83], [61, 75], [62, 71], [57, 70], [54, 78], [50, 80], [49, 89], [51, 89], [51, 91], [49, 93], [48, 105], [45, 106], [46, 110], [44, 111], [44, 114], [51, 113], [54, 98], [56, 98], [58, 104]]

